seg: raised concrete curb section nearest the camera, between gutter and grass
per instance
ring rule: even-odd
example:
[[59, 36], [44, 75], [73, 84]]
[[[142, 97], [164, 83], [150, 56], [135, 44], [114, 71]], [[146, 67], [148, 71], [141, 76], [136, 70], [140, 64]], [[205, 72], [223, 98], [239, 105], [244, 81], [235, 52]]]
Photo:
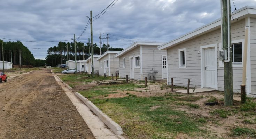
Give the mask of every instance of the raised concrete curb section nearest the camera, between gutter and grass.
[[114, 122], [111, 118], [109, 118], [106, 114], [104, 114], [97, 106], [95, 106], [90, 100], [85, 98], [83, 95], [81, 95], [78, 92], [75, 92], [75, 95], [82, 100], [85, 105], [90, 108], [98, 117], [100, 120], [105, 123], [112, 132], [114, 132], [116, 135], [123, 134], [123, 130], [120, 125], [118, 125], [116, 122]]

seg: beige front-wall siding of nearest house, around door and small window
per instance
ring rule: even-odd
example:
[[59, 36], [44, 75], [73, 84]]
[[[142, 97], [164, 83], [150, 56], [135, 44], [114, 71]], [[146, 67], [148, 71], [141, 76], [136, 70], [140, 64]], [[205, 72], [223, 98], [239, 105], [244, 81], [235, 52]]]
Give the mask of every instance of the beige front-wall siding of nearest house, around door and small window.
[[[245, 19], [232, 24], [231, 27], [232, 40], [244, 39]], [[177, 46], [169, 48], [168, 53], [168, 82], [174, 79], [174, 85], [187, 86], [187, 80], [190, 79], [191, 87], [201, 87], [201, 54], [200, 47], [209, 44], [217, 44], [219, 50], [221, 43], [220, 28], [209, 33], [203, 34]], [[179, 68], [178, 49], [186, 48], [186, 68]], [[217, 59], [218, 72], [218, 90], [224, 91], [224, 71], [219, 67]], [[242, 67], [233, 67], [233, 88], [234, 92], [240, 91], [242, 81]]]

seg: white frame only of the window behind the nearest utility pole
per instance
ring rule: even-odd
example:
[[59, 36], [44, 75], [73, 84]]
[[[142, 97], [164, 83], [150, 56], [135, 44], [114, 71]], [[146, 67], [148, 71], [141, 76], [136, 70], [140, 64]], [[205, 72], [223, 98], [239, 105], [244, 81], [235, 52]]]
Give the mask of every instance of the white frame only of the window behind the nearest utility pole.
[[[231, 44], [237, 44], [237, 43], [242, 43], [242, 62], [233, 62], [233, 59], [232, 59], [232, 66], [233, 67], [243, 67], [243, 48], [244, 48], [244, 39], [240, 39], [240, 40], [232, 40], [231, 41]], [[222, 49], [222, 43], [220, 42], [219, 43], [219, 50], [223, 50]], [[232, 50], [233, 52], [233, 50]], [[224, 64], [222, 61], [219, 60], [219, 67], [224, 67]]]

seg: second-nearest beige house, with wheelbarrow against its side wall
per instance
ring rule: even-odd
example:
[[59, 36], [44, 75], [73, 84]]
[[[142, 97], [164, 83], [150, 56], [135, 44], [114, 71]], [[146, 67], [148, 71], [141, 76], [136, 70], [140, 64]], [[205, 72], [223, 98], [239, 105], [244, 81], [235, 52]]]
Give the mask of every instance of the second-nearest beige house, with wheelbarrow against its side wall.
[[[156, 80], [166, 79], [166, 50], [158, 50], [157, 46], [163, 43], [136, 42], [115, 55], [119, 58], [119, 75], [129, 79], [150, 79], [149, 74], [154, 72]], [[151, 76], [153, 80], [153, 76]]]

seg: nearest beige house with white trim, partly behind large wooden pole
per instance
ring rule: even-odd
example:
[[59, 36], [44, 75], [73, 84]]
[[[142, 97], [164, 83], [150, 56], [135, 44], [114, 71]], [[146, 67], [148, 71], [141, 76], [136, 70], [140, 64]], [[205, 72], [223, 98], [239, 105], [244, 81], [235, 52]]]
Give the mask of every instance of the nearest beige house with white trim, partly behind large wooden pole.
[[[239, 18], [236, 22], [231, 21], [233, 91], [240, 92], [245, 26], [249, 26], [246, 90], [248, 94], [256, 93], [256, 7], [238, 9], [233, 13], [233, 18]], [[222, 50], [220, 19], [158, 48], [167, 50], [168, 84], [173, 78], [174, 85], [186, 86], [190, 79], [191, 86], [224, 91], [223, 62], [217, 55], [217, 51]]]

